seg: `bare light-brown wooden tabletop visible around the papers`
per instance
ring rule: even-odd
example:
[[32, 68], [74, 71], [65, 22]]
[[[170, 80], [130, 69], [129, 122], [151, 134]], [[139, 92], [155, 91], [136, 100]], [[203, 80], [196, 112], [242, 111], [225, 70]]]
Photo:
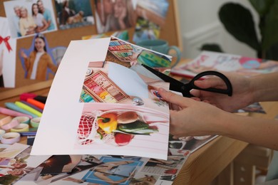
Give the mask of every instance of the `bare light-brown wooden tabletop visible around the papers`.
[[[5, 102], [19, 100], [21, 93], [48, 95], [51, 83], [52, 80], [47, 80], [22, 88], [2, 91], [0, 92], [0, 106], [4, 107]], [[274, 119], [278, 112], [278, 102], [261, 102], [261, 105], [267, 114], [249, 113], [249, 116]], [[5, 116], [0, 114], [0, 119]], [[21, 143], [26, 144], [26, 137], [22, 137]], [[219, 136], [213, 139], [190, 154], [173, 184], [209, 184], [242, 152], [247, 144], [229, 137]]]

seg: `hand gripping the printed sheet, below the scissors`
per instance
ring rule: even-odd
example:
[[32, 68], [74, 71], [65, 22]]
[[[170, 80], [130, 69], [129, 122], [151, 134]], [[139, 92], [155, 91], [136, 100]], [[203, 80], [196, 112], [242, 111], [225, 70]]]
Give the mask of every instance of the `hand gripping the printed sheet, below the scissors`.
[[227, 112], [188, 97], [182, 97], [162, 88], [160, 95], [179, 110], [170, 110], [170, 133], [175, 137], [217, 134], [217, 122], [225, 122]]

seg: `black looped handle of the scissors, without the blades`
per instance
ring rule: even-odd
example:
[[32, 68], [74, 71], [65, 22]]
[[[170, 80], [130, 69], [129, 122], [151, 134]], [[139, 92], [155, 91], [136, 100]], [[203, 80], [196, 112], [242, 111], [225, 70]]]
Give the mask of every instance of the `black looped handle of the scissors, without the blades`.
[[[221, 78], [227, 85], [227, 89], [199, 88], [196, 85], [194, 85], [194, 82], [196, 80], [199, 80], [200, 78], [202, 78], [203, 76], [206, 76], [206, 75], [215, 75], [215, 76]], [[190, 87], [186, 87], [188, 85], [190, 85]], [[205, 90], [205, 91], [210, 91], [213, 93], [221, 93], [221, 94], [232, 96], [232, 84], [230, 83], [230, 80], [225, 75], [223, 75], [222, 73], [219, 73], [215, 70], [207, 70], [207, 71], [204, 71], [202, 73], [195, 75], [195, 77], [192, 78], [192, 80], [190, 80], [189, 83], [185, 84], [185, 94], [183, 96], [192, 97], [192, 95], [190, 94], [190, 90], [192, 90], [192, 89]]]

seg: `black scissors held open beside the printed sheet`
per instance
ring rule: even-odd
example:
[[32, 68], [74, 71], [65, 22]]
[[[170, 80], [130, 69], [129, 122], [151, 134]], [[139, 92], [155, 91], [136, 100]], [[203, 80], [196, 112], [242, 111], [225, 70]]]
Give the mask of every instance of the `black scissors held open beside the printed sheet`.
[[[170, 83], [170, 90], [180, 92], [180, 93], [182, 93], [182, 96], [184, 96], [184, 97], [193, 97], [193, 95], [190, 94], [190, 90], [192, 90], [192, 89], [205, 90], [205, 91], [209, 91], [209, 92], [213, 92], [213, 93], [221, 93], [221, 94], [232, 96], [232, 84], [231, 84], [230, 80], [225, 75], [223, 75], [222, 73], [219, 73], [215, 70], [204, 71], [202, 73], [195, 75], [195, 77], [192, 78], [192, 80], [190, 80], [189, 83], [182, 83], [179, 80], [175, 80], [174, 78], [171, 78], [168, 75], [160, 73], [158, 70], [150, 68], [148, 65], [144, 65], [144, 64], [141, 64], [141, 65], [143, 65], [143, 67], [150, 70], [150, 72], [157, 75], [159, 78], [161, 78], [165, 82]], [[221, 78], [227, 85], [227, 89], [225, 90], [225, 89], [217, 89], [217, 88], [199, 88], [196, 85], [194, 85], [194, 82], [196, 80], [199, 80], [200, 78], [202, 78], [206, 75], [215, 75], [215, 76]]]

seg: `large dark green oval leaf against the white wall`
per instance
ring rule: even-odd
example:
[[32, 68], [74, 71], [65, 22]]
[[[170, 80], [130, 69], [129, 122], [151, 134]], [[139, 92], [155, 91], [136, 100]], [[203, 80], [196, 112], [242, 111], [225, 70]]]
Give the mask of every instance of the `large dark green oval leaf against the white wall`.
[[219, 17], [227, 31], [238, 41], [247, 43], [256, 51], [261, 49], [252, 14], [248, 9], [240, 4], [227, 3], [220, 8]]

